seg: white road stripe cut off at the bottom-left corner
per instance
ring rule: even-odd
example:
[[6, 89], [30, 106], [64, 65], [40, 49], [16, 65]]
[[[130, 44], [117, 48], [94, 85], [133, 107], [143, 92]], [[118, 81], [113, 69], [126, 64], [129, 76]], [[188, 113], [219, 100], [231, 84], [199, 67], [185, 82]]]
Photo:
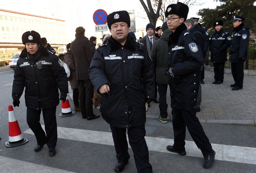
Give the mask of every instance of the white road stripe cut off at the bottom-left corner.
[[1, 172], [43, 172], [43, 173], [72, 173], [63, 169], [52, 168], [40, 164], [24, 162], [9, 157], [0, 156]]

